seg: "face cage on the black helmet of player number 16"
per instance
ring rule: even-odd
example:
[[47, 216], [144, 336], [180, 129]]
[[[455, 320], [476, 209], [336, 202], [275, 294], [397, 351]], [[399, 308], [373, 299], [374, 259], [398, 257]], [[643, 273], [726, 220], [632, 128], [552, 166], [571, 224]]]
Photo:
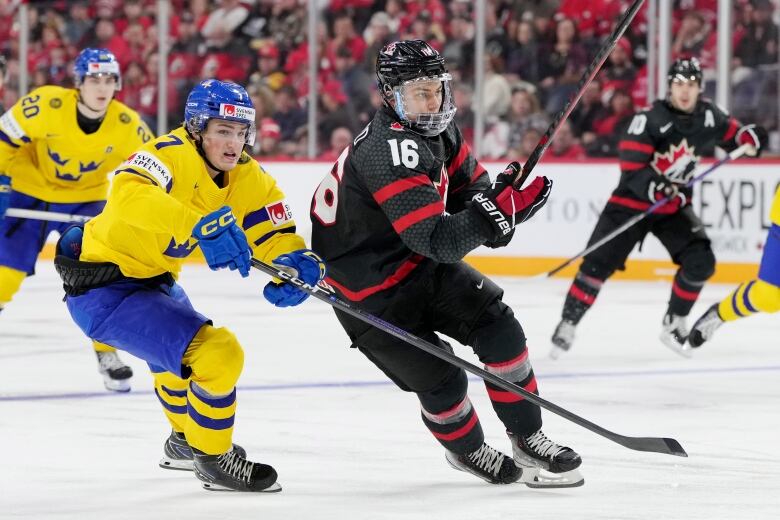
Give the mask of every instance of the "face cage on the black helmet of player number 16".
[[[409, 126], [413, 131], [425, 135], [436, 136], [442, 133], [447, 125], [455, 117], [457, 108], [452, 97], [450, 82], [452, 76], [445, 72], [436, 76], [423, 76], [412, 80], [404, 81], [400, 85], [391, 87], [391, 96], [394, 101], [396, 115], [401, 122]], [[415, 112], [412, 96], [419, 89], [417, 87], [422, 83], [438, 82], [441, 84], [441, 104], [436, 112]]]

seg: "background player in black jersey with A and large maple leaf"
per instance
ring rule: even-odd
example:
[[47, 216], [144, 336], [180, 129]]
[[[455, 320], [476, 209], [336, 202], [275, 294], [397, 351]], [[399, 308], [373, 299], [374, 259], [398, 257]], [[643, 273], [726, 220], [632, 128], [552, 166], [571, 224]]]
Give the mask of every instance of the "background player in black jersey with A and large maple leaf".
[[690, 206], [693, 177], [699, 158], [717, 145], [731, 151], [752, 145], [758, 155], [766, 131], [742, 125], [714, 103], [701, 99], [698, 60], [678, 59], [669, 68], [669, 93], [638, 112], [619, 145], [620, 182], [607, 201], [588, 245], [647, 210], [664, 197], [672, 201], [586, 255], [566, 296], [561, 322], [552, 336], [551, 357], [571, 348], [577, 324], [590, 309], [604, 281], [624, 263], [647, 233], [655, 235], [678, 266], [669, 305], [662, 321], [661, 341], [688, 357], [686, 317], [704, 283], [715, 270], [715, 256], [704, 226]]

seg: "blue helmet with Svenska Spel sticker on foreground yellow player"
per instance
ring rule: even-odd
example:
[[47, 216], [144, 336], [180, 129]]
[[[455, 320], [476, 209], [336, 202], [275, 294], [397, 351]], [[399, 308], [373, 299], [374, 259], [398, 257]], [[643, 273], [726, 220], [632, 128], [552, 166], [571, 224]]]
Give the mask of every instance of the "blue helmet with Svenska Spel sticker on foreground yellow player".
[[255, 142], [255, 107], [241, 85], [218, 79], [201, 81], [190, 91], [184, 107], [184, 127], [191, 134], [205, 130], [209, 119], [235, 121], [248, 126], [245, 144]]

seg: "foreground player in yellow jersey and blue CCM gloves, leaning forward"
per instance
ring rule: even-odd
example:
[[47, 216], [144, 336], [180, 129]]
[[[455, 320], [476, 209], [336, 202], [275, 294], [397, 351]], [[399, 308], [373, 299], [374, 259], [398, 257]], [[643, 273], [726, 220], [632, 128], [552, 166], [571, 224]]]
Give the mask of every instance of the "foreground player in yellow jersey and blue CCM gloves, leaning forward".
[[[232, 444], [236, 337], [195, 311], [176, 283], [200, 248], [212, 269], [248, 276], [250, 257], [294, 270], [309, 284], [325, 275], [295, 234], [284, 194], [244, 147], [255, 110], [242, 87], [217, 80], [187, 98], [184, 125], [141, 147], [116, 171], [106, 208], [71, 228], [55, 258], [74, 321], [91, 338], [149, 364], [173, 432], [164, 468], [194, 469], [207, 489], [278, 491], [276, 471]], [[284, 307], [307, 295], [272, 281], [264, 296]]]

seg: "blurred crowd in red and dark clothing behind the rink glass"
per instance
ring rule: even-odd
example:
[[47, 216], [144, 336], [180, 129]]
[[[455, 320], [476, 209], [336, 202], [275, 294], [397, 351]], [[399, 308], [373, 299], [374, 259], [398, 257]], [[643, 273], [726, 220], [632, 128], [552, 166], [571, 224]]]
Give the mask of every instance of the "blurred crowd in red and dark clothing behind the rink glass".
[[[673, 58], [697, 56], [705, 92], [714, 94], [717, 0], [670, 0]], [[29, 3], [31, 88], [69, 85], [72, 59], [106, 47], [123, 67], [118, 98], [152, 126], [157, 118], [156, 0], [46, 0]], [[0, 104], [15, 99], [19, 0], [0, 0], [0, 54], [8, 71]], [[482, 155], [527, 157], [550, 118], [575, 89], [583, 69], [629, 0], [487, 0], [481, 110]], [[257, 156], [305, 157], [308, 147], [306, 0], [171, 0], [167, 92], [170, 127], [183, 96], [208, 77], [247, 86], [257, 108]], [[468, 0], [320, 1], [317, 31], [317, 149], [333, 159], [381, 105], [374, 77], [378, 50], [396, 39], [422, 38], [442, 52], [454, 76], [456, 120], [473, 139], [474, 2]], [[549, 156], [609, 157], [636, 107], [647, 99], [646, 5], [588, 87]], [[772, 0], [735, 0], [733, 104], [738, 118], [777, 130], [778, 27]], [[0, 83], [1, 85], [1, 83]], [[0, 86], [0, 88], [2, 88]]]

